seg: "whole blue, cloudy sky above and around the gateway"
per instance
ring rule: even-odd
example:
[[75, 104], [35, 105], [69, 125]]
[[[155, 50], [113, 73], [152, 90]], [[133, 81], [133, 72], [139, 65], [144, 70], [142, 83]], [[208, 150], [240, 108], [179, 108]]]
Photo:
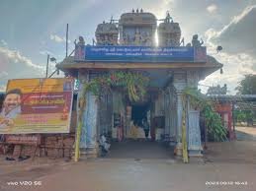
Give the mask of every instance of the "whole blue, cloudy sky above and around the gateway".
[[157, 19], [169, 11], [186, 43], [195, 33], [204, 39], [208, 54], [224, 66], [222, 75], [218, 70], [200, 82], [203, 92], [227, 84], [233, 95], [244, 75], [256, 74], [256, 0], [0, 0], [0, 92], [8, 79], [44, 77], [47, 54], [63, 60], [66, 24], [71, 52], [79, 35], [92, 43], [98, 24], [132, 8]]

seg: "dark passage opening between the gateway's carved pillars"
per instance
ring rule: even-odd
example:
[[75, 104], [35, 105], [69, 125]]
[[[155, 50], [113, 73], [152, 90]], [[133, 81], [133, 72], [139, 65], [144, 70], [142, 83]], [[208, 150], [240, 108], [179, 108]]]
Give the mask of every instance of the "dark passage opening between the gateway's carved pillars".
[[[151, 87], [142, 100], [131, 102], [123, 92], [114, 92], [114, 126], [111, 152], [107, 158], [173, 158], [174, 148], [167, 140], [170, 128], [174, 129], [170, 119], [173, 116], [170, 112], [172, 107], [167, 106], [171, 104], [168, 98], [173, 96], [166, 94], [167, 92], [161, 91], [161, 87]], [[142, 123], [143, 119], [148, 123], [148, 134]]]

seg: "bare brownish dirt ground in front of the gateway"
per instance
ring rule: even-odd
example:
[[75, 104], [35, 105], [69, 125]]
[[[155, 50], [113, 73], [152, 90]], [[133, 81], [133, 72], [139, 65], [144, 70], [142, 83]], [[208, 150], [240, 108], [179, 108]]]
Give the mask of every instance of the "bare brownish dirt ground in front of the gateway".
[[[160, 145], [143, 144], [123, 144], [123, 155], [128, 153], [124, 158], [115, 154], [120, 151], [116, 145], [107, 158], [77, 163], [64, 159], [18, 162], [1, 158], [0, 190], [256, 190], [256, 142], [210, 143], [205, 157], [191, 159], [190, 163], [174, 159], [171, 151], [160, 149]], [[150, 155], [162, 157], [149, 158]]]

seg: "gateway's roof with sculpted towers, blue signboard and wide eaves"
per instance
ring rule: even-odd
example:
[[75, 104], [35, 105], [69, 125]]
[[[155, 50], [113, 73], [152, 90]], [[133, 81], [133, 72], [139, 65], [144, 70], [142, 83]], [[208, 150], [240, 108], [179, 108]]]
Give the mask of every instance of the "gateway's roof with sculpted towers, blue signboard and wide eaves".
[[75, 56], [65, 58], [56, 67], [74, 76], [80, 69], [193, 69], [200, 71], [200, 78], [204, 79], [223, 66], [207, 55], [207, 47], [198, 35], [185, 46], [184, 39], [180, 41], [179, 24], [173, 22], [169, 13], [158, 26], [159, 46], [154, 43], [157, 19], [153, 14], [137, 9], [122, 14], [118, 24], [114, 21], [98, 25], [96, 45], [78, 42]]

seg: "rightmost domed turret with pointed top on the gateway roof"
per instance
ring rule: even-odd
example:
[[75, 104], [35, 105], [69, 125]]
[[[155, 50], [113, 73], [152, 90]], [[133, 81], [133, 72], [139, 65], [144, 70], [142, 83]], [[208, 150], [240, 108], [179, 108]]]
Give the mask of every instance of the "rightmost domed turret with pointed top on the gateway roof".
[[181, 29], [178, 23], [174, 23], [170, 13], [167, 12], [163, 23], [158, 26], [159, 46], [180, 46]]

